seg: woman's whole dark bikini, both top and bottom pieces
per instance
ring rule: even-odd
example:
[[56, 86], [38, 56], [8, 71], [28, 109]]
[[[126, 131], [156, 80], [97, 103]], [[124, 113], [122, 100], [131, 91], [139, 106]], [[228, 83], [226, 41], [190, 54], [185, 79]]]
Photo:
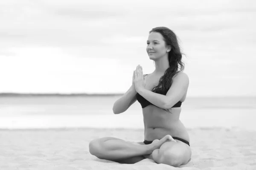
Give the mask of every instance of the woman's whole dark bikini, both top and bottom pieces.
[[[146, 75], [148, 75], [148, 74], [146, 74]], [[145, 75], [145, 76], [146, 76]], [[153, 92], [154, 93], [157, 93], [157, 94], [163, 94], [163, 95], [166, 95], [166, 93], [167, 93], [167, 91], [168, 90], [165, 90], [165, 91], [163, 91], [163, 90], [161, 90], [162, 88], [157, 88], [157, 89], [155, 89]], [[142, 108], [145, 108], [146, 106], [148, 106], [148, 105], [153, 105], [151, 102], [148, 102], [148, 100], [147, 99], [145, 99], [143, 96], [141, 96], [140, 94], [136, 94], [136, 98], [137, 98], [137, 100], [138, 100], [138, 102], [140, 103], [140, 105], [141, 105], [141, 107]], [[172, 108], [179, 108], [180, 106], [181, 106], [181, 103], [182, 102], [177, 102], [174, 106], [172, 106]], [[154, 105], [155, 106], [155, 105]], [[159, 107], [158, 107], [159, 108]], [[179, 140], [179, 141], [181, 141], [181, 142], [184, 142], [185, 144], [188, 144], [189, 145], [189, 142], [187, 142], [186, 140], [184, 140], [184, 139], [181, 139], [181, 138], [178, 138], [178, 137], [175, 137], [175, 136], [172, 136], [172, 138], [173, 139], [177, 139], [177, 140]], [[151, 144], [153, 141], [144, 141], [143, 143], [144, 144]], [[190, 145], [189, 145], [190, 146]]]

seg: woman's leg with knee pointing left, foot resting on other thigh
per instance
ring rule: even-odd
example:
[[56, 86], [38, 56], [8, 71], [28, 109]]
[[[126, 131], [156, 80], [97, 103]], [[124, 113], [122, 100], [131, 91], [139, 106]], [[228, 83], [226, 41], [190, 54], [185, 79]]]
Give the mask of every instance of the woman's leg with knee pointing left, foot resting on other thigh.
[[122, 162], [125, 159], [132, 158], [135, 161], [141, 161], [144, 159], [143, 155], [151, 154], [155, 149], [159, 149], [163, 143], [169, 142], [171, 139], [172, 137], [170, 135], [166, 135], [157, 143], [142, 145], [134, 144], [134, 142], [126, 142], [118, 138], [104, 137], [91, 141], [89, 150], [92, 155], [99, 159]]

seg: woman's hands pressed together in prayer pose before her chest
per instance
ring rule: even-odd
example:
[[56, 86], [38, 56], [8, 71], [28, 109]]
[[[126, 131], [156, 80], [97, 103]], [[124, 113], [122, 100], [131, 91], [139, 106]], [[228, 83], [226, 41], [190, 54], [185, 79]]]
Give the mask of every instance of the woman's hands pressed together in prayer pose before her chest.
[[140, 65], [136, 67], [134, 71], [134, 88], [138, 92], [144, 89], [146, 85], [146, 78], [143, 77], [143, 70]]

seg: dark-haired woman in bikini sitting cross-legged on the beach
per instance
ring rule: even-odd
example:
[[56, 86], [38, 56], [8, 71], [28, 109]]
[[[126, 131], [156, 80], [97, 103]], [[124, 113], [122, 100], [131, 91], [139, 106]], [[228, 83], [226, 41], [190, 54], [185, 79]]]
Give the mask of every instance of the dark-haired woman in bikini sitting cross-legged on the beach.
[[154, 72], [143, 75], [143, 68], [138, 65], [131, 87], [113, 105], [113, 112], [119, 114], [136, 100], [140, 102], [145, 141], [136, 143], [104, 137], [91, 141], [89, 150], [99, 159], [131, 164], [149, 158], [178, 167], [191, 158], [189, 134], [179, 120], [189, 78], [181, 72], [184, 64], [173, 31], [166, 27], [153, 28], [147, 44], [149, 59], [155, 62]]

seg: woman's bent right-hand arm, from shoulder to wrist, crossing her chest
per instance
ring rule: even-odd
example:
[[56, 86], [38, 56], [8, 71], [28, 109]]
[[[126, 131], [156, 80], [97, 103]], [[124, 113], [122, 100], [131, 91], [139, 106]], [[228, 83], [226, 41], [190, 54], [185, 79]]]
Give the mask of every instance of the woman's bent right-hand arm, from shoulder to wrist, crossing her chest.
[[169, 109], [172, 108], [184, 96], [189, 86], [189, 77], [180, 72], [173, 78], [172, 86], [166, 95], [157, 94], [152, 91], [140, 88], [137, 92], [143, 96], [148, 102], [156, 105], [159, 108]]

